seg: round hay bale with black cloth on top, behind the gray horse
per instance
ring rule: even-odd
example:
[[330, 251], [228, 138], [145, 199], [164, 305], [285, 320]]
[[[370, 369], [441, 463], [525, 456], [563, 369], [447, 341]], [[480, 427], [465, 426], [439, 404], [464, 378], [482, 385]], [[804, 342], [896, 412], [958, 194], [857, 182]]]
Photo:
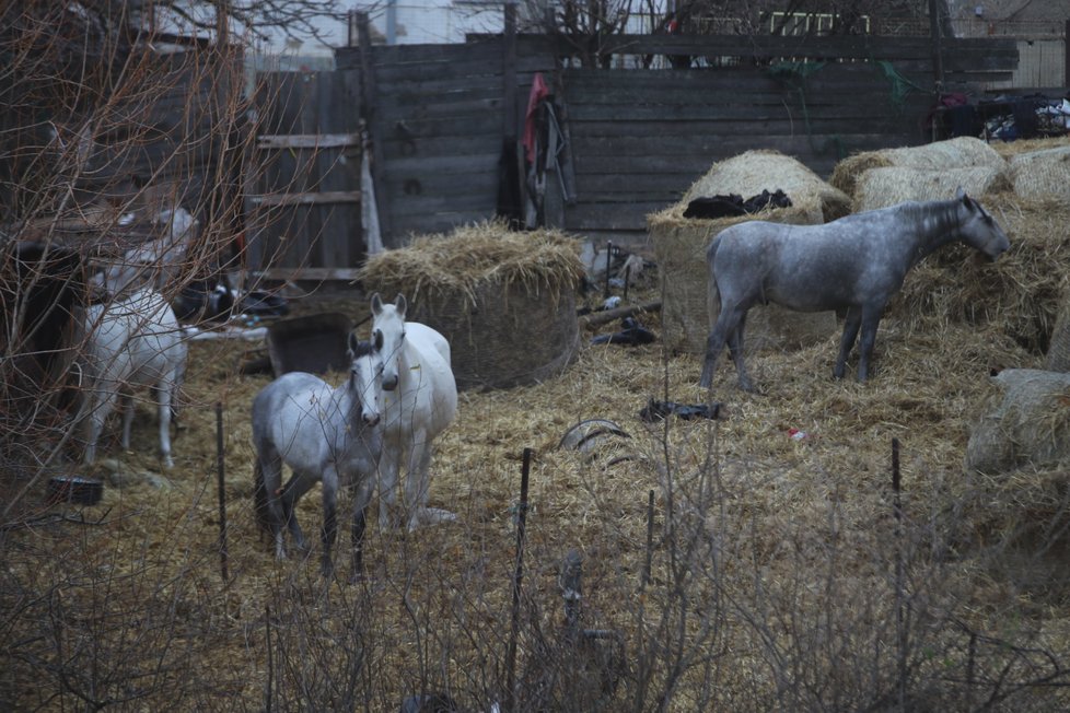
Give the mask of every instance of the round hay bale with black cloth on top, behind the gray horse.
[[[688, 203], [696, 198], [731, 194], [748, 198], [777, 189], [791, 199], [789, 208], [714, 220], [684, 218]], [[678, 203], [647, 219], [662, 280], [662, 337], [666, 346], [691, 353], [706, 350], [710, 324], [717, 316], [708, 312], [706, 250], [721, 231], [748, 220], [815, 225], [847, 214], [849, 206], [841, 191], [799, 161], [776, 151], [748, 151], [714, 164]], [[746, 347], [755, 351], [811, 344], [835, 331], [833, 313], [802, 314], [769, 305], [753, 309], [747, 317]]]

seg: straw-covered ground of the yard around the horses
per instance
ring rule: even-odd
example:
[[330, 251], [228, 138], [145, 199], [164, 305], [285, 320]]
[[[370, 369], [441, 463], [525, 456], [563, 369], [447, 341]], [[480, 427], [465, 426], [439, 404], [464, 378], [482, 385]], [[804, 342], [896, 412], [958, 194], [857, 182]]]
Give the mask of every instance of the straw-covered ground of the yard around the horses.
[[[325, 583], [316, 557], [276, 561], [254, 523], [248, 410], [270, 377], [240, 365], [263, 347], [193, 342], [174, 470], [160, 477], [141, 404], [132, 453], [105, 448], [130, 478], [102, 463], [100, 505], [42, 504], [40, 519], [2, 533], [0, 701], [396, 711], [435, 690], [488, 711], [515, 679], [517, 711], [1067, 710], [1067, 469], [963, 461], [998, 395], [990, 376], [1043, 369], [1070, 214], [1005, 191], [981, 200], [1011, 250], [919, 265], [881, 323], [867, 384], [831, 378], [838, 334], [749, 355], [759, 393], [746, 394], [726, 360], [707, 393], [699, 355], [660, 339], [595, 344], [586, 330], [559, 374], [463, 391], [435, 442], [430, 498], [457, 521], [370, 527], [353, 586], [346, 527], [342, 576]], [[633, 284], [630, 302], [662, 297], [655, 283]], [[291, 299], [367, 336], [356, 288]], [[661, 335], [660, 313], [636, 317]], [[721, 418], [648, 422], [651, 399], [716, 401]], [[560, 448], [588, 419], [628, 437]], [[298, 509], [310, 535], [318, 492]], [[583, 580], [568, 601], [590, 635], [566, 624], [569, 550]]]

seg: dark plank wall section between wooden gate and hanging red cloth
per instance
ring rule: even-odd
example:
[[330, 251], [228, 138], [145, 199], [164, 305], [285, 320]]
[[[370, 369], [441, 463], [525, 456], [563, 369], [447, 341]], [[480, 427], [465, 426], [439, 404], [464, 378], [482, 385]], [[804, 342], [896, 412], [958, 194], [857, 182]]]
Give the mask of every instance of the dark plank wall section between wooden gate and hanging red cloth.
[[[501, 37], [371, 48], [376, 91], [369, 124], [381, 150], [376, 190], [387, 247], [414, 233], [493, 217], [503, 152], [515, 151], [521, 103], [533, 74], [554, 67], [553, 56], [531, 48], [517, 47], [513, 61]], [[344, 73], [361, 69], [357, 48], [339, 50], [336, 60]]]

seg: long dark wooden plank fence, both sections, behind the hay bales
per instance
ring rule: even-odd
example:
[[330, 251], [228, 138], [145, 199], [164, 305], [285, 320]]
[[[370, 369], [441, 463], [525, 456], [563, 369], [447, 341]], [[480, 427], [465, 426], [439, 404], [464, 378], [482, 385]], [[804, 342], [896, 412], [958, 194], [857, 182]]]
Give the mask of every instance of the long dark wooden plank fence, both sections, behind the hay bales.
[[[602, 69], [653, 55], [710, 67]], [[547, 222], [627, 242], [713, 163], [745, 150], [775, 149], [827, 176], [851, 152], [924, 143], [938, 82], [959, 91], [1007, 79], [1016, 61], [1012, 39], [624, 35], [592, 46], [516, 36], [507, 19], [502, 35], [464, 45], [339, 49], [338, 73], [349, 78], [339, 81], [360, 98], [353, 90], [353, 103], [330, 106], [365, 120], [383, 243], [394, 247], [492, 218], [503, 188], [523, 190], [517, 141], [542, 72], [563, 109], [575, 175], [575, 200]], [[329, 129], [342, 130], [352, 127]], [[358, 264], [356, 243], [347, 250]]]

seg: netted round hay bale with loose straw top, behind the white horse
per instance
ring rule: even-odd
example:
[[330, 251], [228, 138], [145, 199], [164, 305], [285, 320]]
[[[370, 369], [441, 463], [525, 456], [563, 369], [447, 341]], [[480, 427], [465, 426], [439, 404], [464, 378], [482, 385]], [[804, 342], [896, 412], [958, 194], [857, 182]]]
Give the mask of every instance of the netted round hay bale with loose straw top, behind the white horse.
[[417, 237], [368, 260], [368, 292], [409, 301], [407, 319], [450, 342], [458, 389], [509, 388], [556, 376], [580, 349], [580, 241], [502, 222]]

